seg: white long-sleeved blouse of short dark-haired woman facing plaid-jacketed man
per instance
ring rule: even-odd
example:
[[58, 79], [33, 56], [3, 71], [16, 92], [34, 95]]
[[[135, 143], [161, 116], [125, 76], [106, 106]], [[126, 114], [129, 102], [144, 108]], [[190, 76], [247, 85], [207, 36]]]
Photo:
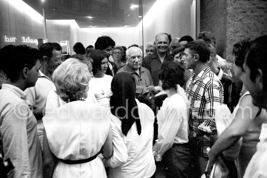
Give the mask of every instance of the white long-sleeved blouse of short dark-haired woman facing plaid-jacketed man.
[[188, 142], [188, 114], [184, 98], [176, 93], [163, 101], [157, 114], [158, 142], [156, 154], [161, 157], [173, 143]]

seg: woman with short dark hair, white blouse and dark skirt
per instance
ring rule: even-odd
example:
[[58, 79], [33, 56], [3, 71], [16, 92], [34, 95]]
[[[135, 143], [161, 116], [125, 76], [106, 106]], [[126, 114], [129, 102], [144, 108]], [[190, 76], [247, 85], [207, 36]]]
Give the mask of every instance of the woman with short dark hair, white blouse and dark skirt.
[[189, 101], [184, 89], [184, 68], [178, 62], [166, 62], [159, 70], [167, 98], [158, 111], [158, 140], [153, 146], [156, 161], [161, 161], [166, 178], [190, 177], [191, 151], [188, 145]]

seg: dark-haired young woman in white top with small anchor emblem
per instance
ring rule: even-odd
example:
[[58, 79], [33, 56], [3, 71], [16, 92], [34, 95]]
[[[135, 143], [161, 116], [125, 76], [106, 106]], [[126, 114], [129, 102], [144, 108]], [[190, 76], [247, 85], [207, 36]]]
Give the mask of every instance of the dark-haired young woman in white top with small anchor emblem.
[[108, 68], [108, 59], [106, 53], [100, 50], [94, 50], [90, 53], [89, 57], [93, 59], [93, 73], [94, 77], [89, 83], [89, 89], [94, 93], [98, 103], [110, 109], [110, 96], [111, 91], [111, 80], [112, 76], [106, 75]]

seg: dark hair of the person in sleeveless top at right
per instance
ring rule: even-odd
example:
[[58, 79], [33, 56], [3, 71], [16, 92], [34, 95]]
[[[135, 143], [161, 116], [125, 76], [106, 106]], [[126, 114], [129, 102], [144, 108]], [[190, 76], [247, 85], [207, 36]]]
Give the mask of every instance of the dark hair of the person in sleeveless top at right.
[[246, 54], [249, 51], [251, 45], [250, 38], [246, 38], [242, 41], [238, 41], [233, 45], [233, 55], [235, 56], [234, 64], [240, 67], [243, 71], [243, 64]]

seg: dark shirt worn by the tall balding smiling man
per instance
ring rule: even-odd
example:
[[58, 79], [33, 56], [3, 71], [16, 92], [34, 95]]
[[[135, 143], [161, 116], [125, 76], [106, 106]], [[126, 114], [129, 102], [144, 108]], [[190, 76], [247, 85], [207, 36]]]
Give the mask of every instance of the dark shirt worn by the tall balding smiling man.
[[[166, 54], [163, 63], [167, 61], [173, 61], [173, 58], [171, 58], [168, 54]], [[156, 52], [146, 56], [142, 62], [142, 67], [150, 71], [154, 86], [158, 86], [159, 84], [158, 71], [161, 64], [162, 62]]]

